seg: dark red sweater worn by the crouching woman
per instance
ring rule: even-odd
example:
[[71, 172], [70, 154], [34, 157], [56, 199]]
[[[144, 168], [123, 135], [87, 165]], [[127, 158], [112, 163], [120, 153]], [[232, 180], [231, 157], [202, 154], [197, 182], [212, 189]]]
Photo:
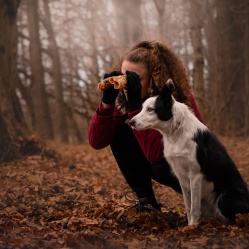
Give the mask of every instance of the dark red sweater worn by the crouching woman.
[[[189, 102], [190, 108], [193, 110], [195, 116], [204, 123], [192, 94], [190, 95]], [[115, 106], [104, 109], [102, 107], [102, 102], [100, 102], [92, 117], [88, 130], [90, 145], [94, 149], [103, 149], [108, 146], [115, 134], [116, 127], [119, 124], [124, 123], [127, 119], [131, 119], [140, 111], [141, 109], [134, 112], [128, 112], [127, 115], [121, 115]], [[148, 161], [155, 162], [163, 158], [162, 135], [158, 131], [153, 129], [136, 131], [132, 128], [131, 130], [135, 134]]]

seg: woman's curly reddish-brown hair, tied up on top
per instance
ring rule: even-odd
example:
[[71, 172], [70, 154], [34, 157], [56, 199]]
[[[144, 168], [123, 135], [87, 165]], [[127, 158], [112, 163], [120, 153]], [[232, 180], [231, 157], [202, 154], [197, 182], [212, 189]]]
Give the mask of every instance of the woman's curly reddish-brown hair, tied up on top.
[[[175, 84], [173, 96], [179, 102], [189, 104], [190, 82], [188, 72], [182, 60], [173, 49], [161, 41], [141, 41], [131, 47], [114, 65], [114, 70], [121, 70], [124, 60], [145, 64], [155, 84], [161, 89], [171, 78]], [[151, 93], [151, 83], [148, 89]]]

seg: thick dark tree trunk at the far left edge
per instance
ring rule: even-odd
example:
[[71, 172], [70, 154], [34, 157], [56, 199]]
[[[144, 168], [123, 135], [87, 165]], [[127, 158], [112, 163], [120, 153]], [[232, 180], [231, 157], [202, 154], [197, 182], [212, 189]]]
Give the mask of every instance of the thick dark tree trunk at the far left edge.
[[0, 2], [0, 163], [19, 157], [18, 139], [27, 126], [15, 93], [18, 0]]

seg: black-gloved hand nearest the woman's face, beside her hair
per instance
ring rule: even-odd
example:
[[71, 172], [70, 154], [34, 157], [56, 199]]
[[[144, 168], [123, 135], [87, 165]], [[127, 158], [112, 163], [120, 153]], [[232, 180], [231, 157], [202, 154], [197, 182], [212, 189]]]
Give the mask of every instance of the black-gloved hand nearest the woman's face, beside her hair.
[[139, 76], [135, 72], [126, 71], [127, 75], [127, 101], [129, 110], [135, 111], [142, 107], [141, 89]]

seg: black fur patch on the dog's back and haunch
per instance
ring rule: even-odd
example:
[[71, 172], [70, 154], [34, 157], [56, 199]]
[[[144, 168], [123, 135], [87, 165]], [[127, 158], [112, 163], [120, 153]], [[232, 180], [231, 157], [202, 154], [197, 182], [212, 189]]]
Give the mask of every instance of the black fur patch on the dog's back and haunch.
[[247, 186], [224, 146], [209, 131], [197, 131], [193, 140], [201, 170], [214, 183], [221, 213], [230, 220], [237, 213], [249, 213]]

